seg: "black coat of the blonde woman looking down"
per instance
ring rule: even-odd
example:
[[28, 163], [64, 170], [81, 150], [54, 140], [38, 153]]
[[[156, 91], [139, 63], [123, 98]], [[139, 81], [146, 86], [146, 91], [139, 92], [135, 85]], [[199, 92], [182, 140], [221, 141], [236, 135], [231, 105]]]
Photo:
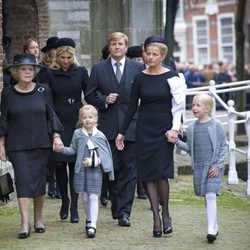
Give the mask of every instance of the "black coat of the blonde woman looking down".
[[[64, 146], [70, 145], [79, 116], [79, 109], [83, 106], [82, 94], [85, 93], [89, 76], [85, 67], [71, 65], [67, 71], [48, 70], [48, 85], [51, 88], [54, 109], [64, 126], [61, 134]], [[55, 161], [74, 161], [75, 157], [68, 157], [55, 153]]]

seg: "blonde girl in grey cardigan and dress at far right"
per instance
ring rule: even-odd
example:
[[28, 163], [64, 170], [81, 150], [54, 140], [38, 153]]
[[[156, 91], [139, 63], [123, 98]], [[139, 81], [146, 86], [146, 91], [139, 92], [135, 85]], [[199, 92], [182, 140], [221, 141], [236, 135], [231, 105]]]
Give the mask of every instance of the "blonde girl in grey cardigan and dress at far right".
[[198, 119], [187, 129], [187, 142], [176, 141], [178, 148], [191, 155], [195, 194], [205, 196], [209, 243], [218, 235], [216, 196], [220, 195], [227, 154], [226, 133], [221, 122], [211, 118], [212, 107], [209, 95], [194, 96], [192, 111]]

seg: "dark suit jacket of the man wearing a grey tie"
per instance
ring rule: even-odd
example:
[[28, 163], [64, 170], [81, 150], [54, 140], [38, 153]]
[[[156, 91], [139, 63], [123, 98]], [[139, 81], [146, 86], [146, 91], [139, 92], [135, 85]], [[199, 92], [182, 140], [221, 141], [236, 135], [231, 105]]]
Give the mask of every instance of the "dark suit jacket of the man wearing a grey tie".
[[[85, 100], [99, 109], [98, 128], [108, 140], [115, 140], [130, 103], [130, 92], [134, 76], [143, 70], [143, 64], [126, 58], [121, 82], [118, 83], [111, 59], [95, 64], [90, 74]], [[106, 105], [106, 97], [110, 93], [118, 93], [114, 104]], [[134, 119], [126, 134], [125, 140], [135, 140]]]

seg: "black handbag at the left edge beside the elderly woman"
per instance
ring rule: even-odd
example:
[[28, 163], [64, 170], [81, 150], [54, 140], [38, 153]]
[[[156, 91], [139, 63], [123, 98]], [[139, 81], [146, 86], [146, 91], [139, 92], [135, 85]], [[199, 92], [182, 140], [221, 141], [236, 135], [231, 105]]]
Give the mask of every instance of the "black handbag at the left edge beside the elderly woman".
[[7, 202], [10, 199], [9, 194], [13, 192], [14, 186], [10, 173], [0, 176], [0, 200]]

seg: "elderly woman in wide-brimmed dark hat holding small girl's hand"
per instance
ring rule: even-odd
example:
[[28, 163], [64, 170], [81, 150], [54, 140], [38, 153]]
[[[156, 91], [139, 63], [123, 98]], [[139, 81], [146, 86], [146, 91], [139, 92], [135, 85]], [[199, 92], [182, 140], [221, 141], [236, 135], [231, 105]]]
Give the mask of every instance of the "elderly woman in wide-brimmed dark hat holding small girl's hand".
[[[44, 233], [42, 209], [46, 190], [46, 166], [52, 147], [62, 144], [63, 130], [46, 84], [33, 82], [43, 68], [32, 54], [18, 54], [7, 67], [17, 80], [1, 93], [0, 159], [8, 156], [15, 173], [15, 185], [21, 213], [19, 239], [30, 236], [29, 198], [34, 203], [34, 230]], [[6, 153], [7, 152], [7, 153]]]

